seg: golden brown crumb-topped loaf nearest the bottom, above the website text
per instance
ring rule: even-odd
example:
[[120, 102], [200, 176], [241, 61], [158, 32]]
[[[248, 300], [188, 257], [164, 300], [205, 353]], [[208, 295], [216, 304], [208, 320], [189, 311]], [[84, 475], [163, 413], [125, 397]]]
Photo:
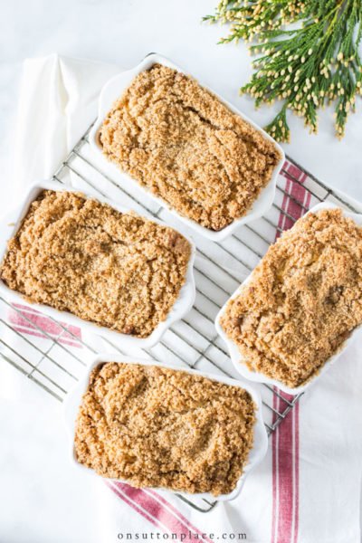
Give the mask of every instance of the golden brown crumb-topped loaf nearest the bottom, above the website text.
[[109, 362], [90, 374], [75, 451], [100, 475], [136, 487], [226, 494], [252, 448], [254, 411], [239, 386]]

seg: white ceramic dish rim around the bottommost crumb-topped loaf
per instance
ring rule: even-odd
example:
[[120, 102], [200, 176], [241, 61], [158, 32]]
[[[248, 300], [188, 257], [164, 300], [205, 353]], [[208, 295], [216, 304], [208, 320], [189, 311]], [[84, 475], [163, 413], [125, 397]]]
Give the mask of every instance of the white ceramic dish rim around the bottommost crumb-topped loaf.
[[[93, 358], [93, 361], [90, 364], [90, 368], [87, 374], [81, 379], [81, 381], [71, 391], [71, 393], [67, 395], [65, 404], [64, 404], [65, 423], [66, 423], [68, 433], [70, 436], [71, 462], [74, 463], [79, 469], [83, 471], [95, 473], [89, 468], [77, 462], [75, 453], [74, 453], [74, 433], [75, 433], [75, 422], [76, 422], [79, 407], [81, 405], [81, 399], [82, 399], [83, 394], [87, 391], [87, 388], [88, 388], [88, 384], [90, 380], [90, 372], [92, 371], [94, 367], [99, 366], [103, 362], [117, 362], [117, 363], [126, 362], [127, 364], [141, 364], [143, 366], [167, 367], [170, 369], [176, 369], [177, 371], [185, 371], [186, 373], [190, 375], [205, 376], [205, 377], [208, 377], [209, 379], [213, 379], [214, 381], [218, 381], [219, 383], [225, 383], [226, 385], [240, 386], [241, 388], [249, 392], [249, 394], [252, 396], [253, 402], [257, 406], [257, 410], [255, 413], [256, 420], [254, 424], [254, 443], [252, 446], [252, 450], [249, 453], [248, 462], [244, 467], [242, 477], [237, 482], [236, 488], [229, 494], [222, 494], [221, 496], [218, 496], [216, 499], [219, 501], [229, 501], [236, 498], [236, 496], [239, 495], [239, 493], [241, 492], [243, 488], [243, 483], [245, 481], [245, 478], [250, 472], [252, 472], [252, 470], [258, 463], [262, 462], [262, 459], [265, 456], [268, 449], [268, 436], [266, 433], [265, 425], [262, 421], [262, 400], [261, 400], [260, 395], [252, 388], [252, 386], [247, 385], [245, 383], [241, 383], [240, 381], [231, 379], [229, 377], [216, 376], [214, 374], [196, 371], [195, 369], [159, 364], [155, 362], [154, 360], [143, 360], [139, 358], [129, 358], [129, 357], [123, 357], [121, 355], [110, 355], [110, 354], [107, 354], [107, 355], [100, 354]], [[117, 480], [117, 481], [120, 481], [120, 480]], [[121, 481], [121, 482], [127, 482], [127, 481]], [[155, 489], [155, 490], [162, 490], [162, 489]], [[178, 491], [169, 491], [169, 492], [173, 494], [183, 494], [185, 496], [197, 496], [198, 498], [205, 498], [205, 500], [215, 500], [215, 497], [208, 492], [197, 493], [197, 494], [188, 494], [186, 492], [178, 492]]]

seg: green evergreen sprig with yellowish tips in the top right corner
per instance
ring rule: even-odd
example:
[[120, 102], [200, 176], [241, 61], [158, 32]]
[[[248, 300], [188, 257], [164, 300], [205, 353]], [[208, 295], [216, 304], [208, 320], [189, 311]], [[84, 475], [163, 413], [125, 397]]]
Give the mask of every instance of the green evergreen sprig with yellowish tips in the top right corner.
[[[281, 110], [265, 129], [279, 141], [290, 141], [287, 111], [318, 130], [318, 111], [335, 104], [338, 138], [362, 94], [362, 0], [223, 0], [211, 22], [231, 23], [221, 43], [250, 43], [255, 72], [242, 93], [255, 106], [281, 100]], [[288, 26], [287, 26], [288, 25]]]

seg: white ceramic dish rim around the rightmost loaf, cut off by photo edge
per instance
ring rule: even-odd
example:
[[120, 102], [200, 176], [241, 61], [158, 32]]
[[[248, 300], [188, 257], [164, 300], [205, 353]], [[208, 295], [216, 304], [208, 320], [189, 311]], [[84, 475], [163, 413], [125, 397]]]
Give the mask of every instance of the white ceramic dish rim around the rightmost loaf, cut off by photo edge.
[[[322, 204], [315, 205], [314, 207], [312, 207], [307, 214], [317, 212], [321, 209], [336, 209], [336, 208], [338, 208], [338, 205], [322, 203]], [[343, 214], [346, 217], [353, 219], [355, 223], [358, 224], [358, 226], [362, 226], [362, 214], [349, 213], [348, 211], [345, 211], [345, 210], [343, 210]], [[236, 291], [233, 292], [229, 300], [233, 300], [234, 298], [236, 298], [239, 295], [239, 292], [242, 290], [243, 285], [246, 285], [249, 281], [251, 281], [251, 279], [252, 279], [252, 273], [248, 275], [248, 277], [245, 279], [245, 281], [243, 281], [240, 287], [238, 287]], [[227, 300], [224, 303], [224, 306], [216, 315], [215, 327], [216, 327], [217, 333], [219, 334], [221, 338], [224, 339], [224, 342], [227, 345], [230, 357], [232, 358], [232, 361], [233, 361], [233, 366], [240, 373], [240, 375], [243, 376], [245, 379], [249, 379], [250, 381], [254, 381], [257, 383], [265, 383], [271, 386], [278, 386], [278, 388], [281, 391], [290, 395], [298, 395], [304, 392], [311, 385], [316, 383], [319, 380], [319, 378], [323, 376], [329, 370], [329, 367], [331, 367], [331, 365], [338, 359], [338, 357], [340, 357], [341, 353], [345, 350], [345, 348], [348, 347], [350, 342], [353, 341], [353, 339], [356, 337], [356, 334], [358, 333], [358, 331], [362, 328], [362, 325], [361, 325], [361, 326], [358, 326], [356, 329], [354, 329], [351, 335], [349, 336], [349, 338], [338, 348], [338, 351], [332, 357], [329, 357], [327, 362], [319, 369], [319, 372], [316, 373], [314, 376], [312, 376], [306, 383], [304, 383], [304, 385], [291, 388], [290, 386], [286, 386], [283, 383], [281, 383], [281, 381], [277, 381], [276, 379], [271, 379], [270, 377], [265, 376], [262, 373], [250, 370], [246, 366], [246, 364], [243, 362], [243, 355], [239, 351], [239, 348], [237, 347], [236, 343], [234, 343], [232, 339], [226, 336], [226, 334], [224, 333], [224, 329], [222, 329], [220, 325], [221, 316], [223, 315], [224, 310], [226, 309], [226, 306], [229, 300]]]

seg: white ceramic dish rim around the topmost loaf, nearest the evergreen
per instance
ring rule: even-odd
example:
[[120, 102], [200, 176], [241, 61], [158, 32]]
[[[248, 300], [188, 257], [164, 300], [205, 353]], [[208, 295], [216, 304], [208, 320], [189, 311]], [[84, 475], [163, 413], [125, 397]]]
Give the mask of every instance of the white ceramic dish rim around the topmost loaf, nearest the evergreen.
[[[128, 176], [126, 173], [123, 173], [119, 170], [119, 167], [117, 167], [115, 164], [111, 163], [106, 157], [104, 157], [102, 153], [102, 148], [100, 145], [99, 140], [99, 131], [100, 127], [102, 125], [103, 120], [107, 116], [108, 112], [111, 110], [113, 103], [119, 98], [119, 96], [129, 87], [129, 84], [131, 81], [140, 73], [141, 71], [148, 70], [151, 68], [153, 64], [163, 64], [164, 66], [167, 66], [169, 68], [173, 68], [174, 70], [185, 72], [176, 64], [169, 61], [164, 56], [161, 56], [157, 53], [150, 53], [142, 62], [136, 66], [136, 68], [133, 68], [129, 71], [123, 71], [122, 73], [119, 73], [119, 75], [116, 75], [113, 77], [110, 81], [108, 81], [103, 89], [100, 91], [100, 100], [99, 100], [99, 110], [98, 110], [98, 118], [93, 126], [93, 128], [90, 131], [90, 146], [93, 148], [94, 152], [97, 153], [104, 161], [107, 162], [107, 164], [111, 164], [112, 170], [114, 172], [114, 176], [119, 178], [119, 181], [122, 181], [122, 178], [128, 178], [131, 180], [134, 184], [138, 185], [138, 182], [135, 181], [132, 177]], [[205, 89], [209, 89], [206, 85], [204, 85], [202, 82], [201, 84]], [[271, 176], [271, 180], [268, 183], [267, 186], [265, 186], [262, 189], [262, 192], [258, 196], [258, 198], [255, 200], [254, 204], [252, 205], [252, 208], [248, 211], [247, 214], [244, 214], [243, 217], [240, 219], [237, 219], [233, 221], [232, 224], [229, 224], [228, 226], [225, 226], [223, 230], [220, 230], [218, 232], [214, 232], [213, 230], [210, 230], [209, 228], [205, 228], [205, 226], [201, 226], [200, 224], [197, 224], [194, 220], [188, 219], [186, 216], [183, 216], [182, 214], [178, 214], [175, 209], [170, 207], [165, 200], [162, 198], [159, 198], [155, 195], [153, 195], [148, 188], [141, 187], [142, 190], [146, 191], [148, 196], [157, 202], [158, 205], [162, 205], [163, 207], [167, 208], [167, 210], [176, 215], [178, 219], [183, 221], [187, 226], [190, 226], [191, 228], [194, 228], [195, 232], [200, 233], [204, 235], [206, 238], [214, 241], [214, 242], [220, 242], [224, 240], [225, 237], [232, 234], [239, 226], [242, 224], [250, 223], [251, 221], [254, 221], [255, 219], [259, 218], [264, 214], [270, 207], [274, 200], [275, 195], [275, 187], [277, 182], [277, 177], [279, 175], [279, 172], [281, 171], [281, 167], [285, 161], [285, 155], [282, 150], [282, 148], [278, 145], [278, 143], [269, 136], [264, 130], [262, 130], [258, 125], [256, 125], [252, 119], [249, 119], [244, 115], [240, 110], [237, 110], [233, 104], [230, 102], [224, 100], [221, 96], [219, 96], [214, 90], [211, 90], [214, 95], [224, 102], [224, 104], [233, 111], [233, 113], [236, 113], [239, 115], [242, 119], [249, 122], [254, 129], [257, 129], [259, 132], [262, 133], [262, 136], [266, 139], [269, 139], [274, 143], [274, 145], [279, 149], [281, 153], [281, 160], [277, 164], [277, 166], [274, 168], [273, 174]], [[138, 185], [139, 186], [139, 185]]]

